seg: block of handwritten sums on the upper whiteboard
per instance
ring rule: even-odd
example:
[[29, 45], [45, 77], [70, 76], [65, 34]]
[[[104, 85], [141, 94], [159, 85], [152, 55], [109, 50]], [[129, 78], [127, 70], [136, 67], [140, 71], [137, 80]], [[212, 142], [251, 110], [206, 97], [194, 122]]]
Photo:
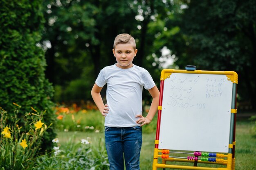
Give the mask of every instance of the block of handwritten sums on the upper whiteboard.
[[171, 76], [168, 88], [167, 105], [181, 109], [205, 109], [206, 99], [222, 96], [225, 78], [202, 78], [200, 75], [191, 77]]

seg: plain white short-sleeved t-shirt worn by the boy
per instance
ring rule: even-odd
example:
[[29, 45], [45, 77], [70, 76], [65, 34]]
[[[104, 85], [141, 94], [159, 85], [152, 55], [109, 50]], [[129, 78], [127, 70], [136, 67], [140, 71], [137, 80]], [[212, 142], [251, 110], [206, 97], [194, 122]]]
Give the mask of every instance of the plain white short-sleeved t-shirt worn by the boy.
[[137, 65], [121, 69], [110, 65], [101, 70], [95, 83], [99, 87], [107, 84], [107, 103], [105, 126], [138, 126], [136, 115], [142, 114], [142, 87], [151, 89], [155, 86], [148, 71]]

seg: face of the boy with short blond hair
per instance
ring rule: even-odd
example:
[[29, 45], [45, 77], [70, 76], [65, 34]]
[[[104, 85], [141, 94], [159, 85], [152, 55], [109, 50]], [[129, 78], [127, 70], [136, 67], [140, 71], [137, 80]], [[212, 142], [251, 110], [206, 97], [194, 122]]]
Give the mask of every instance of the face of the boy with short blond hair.
[[117, 60], [117, 67], [127, 69], [132, 67], [133, 58], [137, 54], [137, 49], [134, 50], [132, 44], [117, 44], [113, 49], [113, 54]]

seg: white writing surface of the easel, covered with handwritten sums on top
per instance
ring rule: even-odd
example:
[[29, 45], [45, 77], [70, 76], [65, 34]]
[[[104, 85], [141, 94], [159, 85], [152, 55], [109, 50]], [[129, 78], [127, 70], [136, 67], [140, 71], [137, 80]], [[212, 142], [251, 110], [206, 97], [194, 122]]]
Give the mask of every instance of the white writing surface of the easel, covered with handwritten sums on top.
[[159, 149], [228, 153], [232, 85], [220, 74], [166, 78]]

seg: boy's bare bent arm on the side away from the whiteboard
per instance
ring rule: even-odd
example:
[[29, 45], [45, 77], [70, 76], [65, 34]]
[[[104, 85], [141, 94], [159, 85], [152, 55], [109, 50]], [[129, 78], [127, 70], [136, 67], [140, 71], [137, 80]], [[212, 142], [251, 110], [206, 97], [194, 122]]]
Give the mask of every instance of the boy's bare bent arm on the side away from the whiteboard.
[[96, 83], [92, 87], [92, 99], [94, 100], [95, 104], [97, 105], [99, 111], [101, 112], [102, 116], [107, 116], [105, 113], [108, 113], [108, 105], [104, 105], [102, 97], [101, 97], [101, 89]]

